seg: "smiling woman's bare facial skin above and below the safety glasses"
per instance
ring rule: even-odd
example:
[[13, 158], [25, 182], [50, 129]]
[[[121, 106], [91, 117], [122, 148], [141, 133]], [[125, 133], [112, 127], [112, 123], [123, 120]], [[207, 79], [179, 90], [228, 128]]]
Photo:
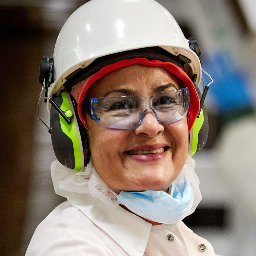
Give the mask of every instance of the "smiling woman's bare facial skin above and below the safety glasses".
[[[135, 64], [106, 74], [93, 84], [87, 96], [118, 97], [127, 96], [127, 92], [151, 96], [154, 92], [176, 88], [180, 88], [178, 79], [164, 68]], [[120, 89], [125, 90], [120, 92]], [[147, 110], [135, 130], [98, 125], [87, 113], [86, 122], [94, 167], [101, 179], [117, 193], [122, 190], [167, 191], [185, 164], [188, 153], [186, 117], [162, 126], [152, 111]], [[156, 150], [156, 153], [143, 154], [147, 152], [139, 150]]]

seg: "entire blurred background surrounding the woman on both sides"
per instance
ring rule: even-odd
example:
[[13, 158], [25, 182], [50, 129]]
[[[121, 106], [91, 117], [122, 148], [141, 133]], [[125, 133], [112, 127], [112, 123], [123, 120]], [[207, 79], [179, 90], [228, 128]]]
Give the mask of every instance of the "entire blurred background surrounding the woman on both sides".
[[[52, 57], [64, 22], [86, 2], [0, 1], [1, 109], [6, 113], [0, 255], [24, 255], [38, 224], [65, 201], [54, 193], [50, 165], [55, 156], [37, 119], [38, 70], [43, 56]], [[196, 38], [203, 68], [214, 80], [206, 98], [209, 138], [194, 157], [203, 200], [185, 223], [218, 254], [255, 256], [256, 2], [158, 2], [186, 38]]]

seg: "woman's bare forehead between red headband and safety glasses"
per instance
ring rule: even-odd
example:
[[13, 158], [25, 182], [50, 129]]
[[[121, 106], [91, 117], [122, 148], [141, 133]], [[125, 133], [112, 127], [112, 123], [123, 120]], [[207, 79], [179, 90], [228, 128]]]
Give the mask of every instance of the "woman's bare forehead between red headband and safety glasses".
[[181, 87], [181, 80], [163, 67], [134, 64], [107, 73], [94, 82], [86, 94], [88, 97], [105, 97], [124, 92], [127, 95], [147, 96]]

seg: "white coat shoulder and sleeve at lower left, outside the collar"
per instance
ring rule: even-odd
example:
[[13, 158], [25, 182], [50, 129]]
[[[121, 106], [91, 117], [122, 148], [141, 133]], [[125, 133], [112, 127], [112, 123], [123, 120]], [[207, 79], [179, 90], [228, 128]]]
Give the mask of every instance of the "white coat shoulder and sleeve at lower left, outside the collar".
[[25, 256], [119, 255], [123, 250], [109, 241], [78, 208], [64, 202], [36, 228]]

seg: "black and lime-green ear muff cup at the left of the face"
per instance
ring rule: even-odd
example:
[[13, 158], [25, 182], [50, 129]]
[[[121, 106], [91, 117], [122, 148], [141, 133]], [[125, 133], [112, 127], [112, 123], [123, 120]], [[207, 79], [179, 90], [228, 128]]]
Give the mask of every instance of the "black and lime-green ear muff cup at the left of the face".
[[54, 102], [63, 112], [71, 110], [74, 116], [71, 124], [68, 124], [55, 108], [51, 108], [50, 131], [53, 151], [62, 165], [80, 170], [88, 164], [90, 152], [86, 130], [76, 111], [76, 102], [65, 91], [55, 97]]

